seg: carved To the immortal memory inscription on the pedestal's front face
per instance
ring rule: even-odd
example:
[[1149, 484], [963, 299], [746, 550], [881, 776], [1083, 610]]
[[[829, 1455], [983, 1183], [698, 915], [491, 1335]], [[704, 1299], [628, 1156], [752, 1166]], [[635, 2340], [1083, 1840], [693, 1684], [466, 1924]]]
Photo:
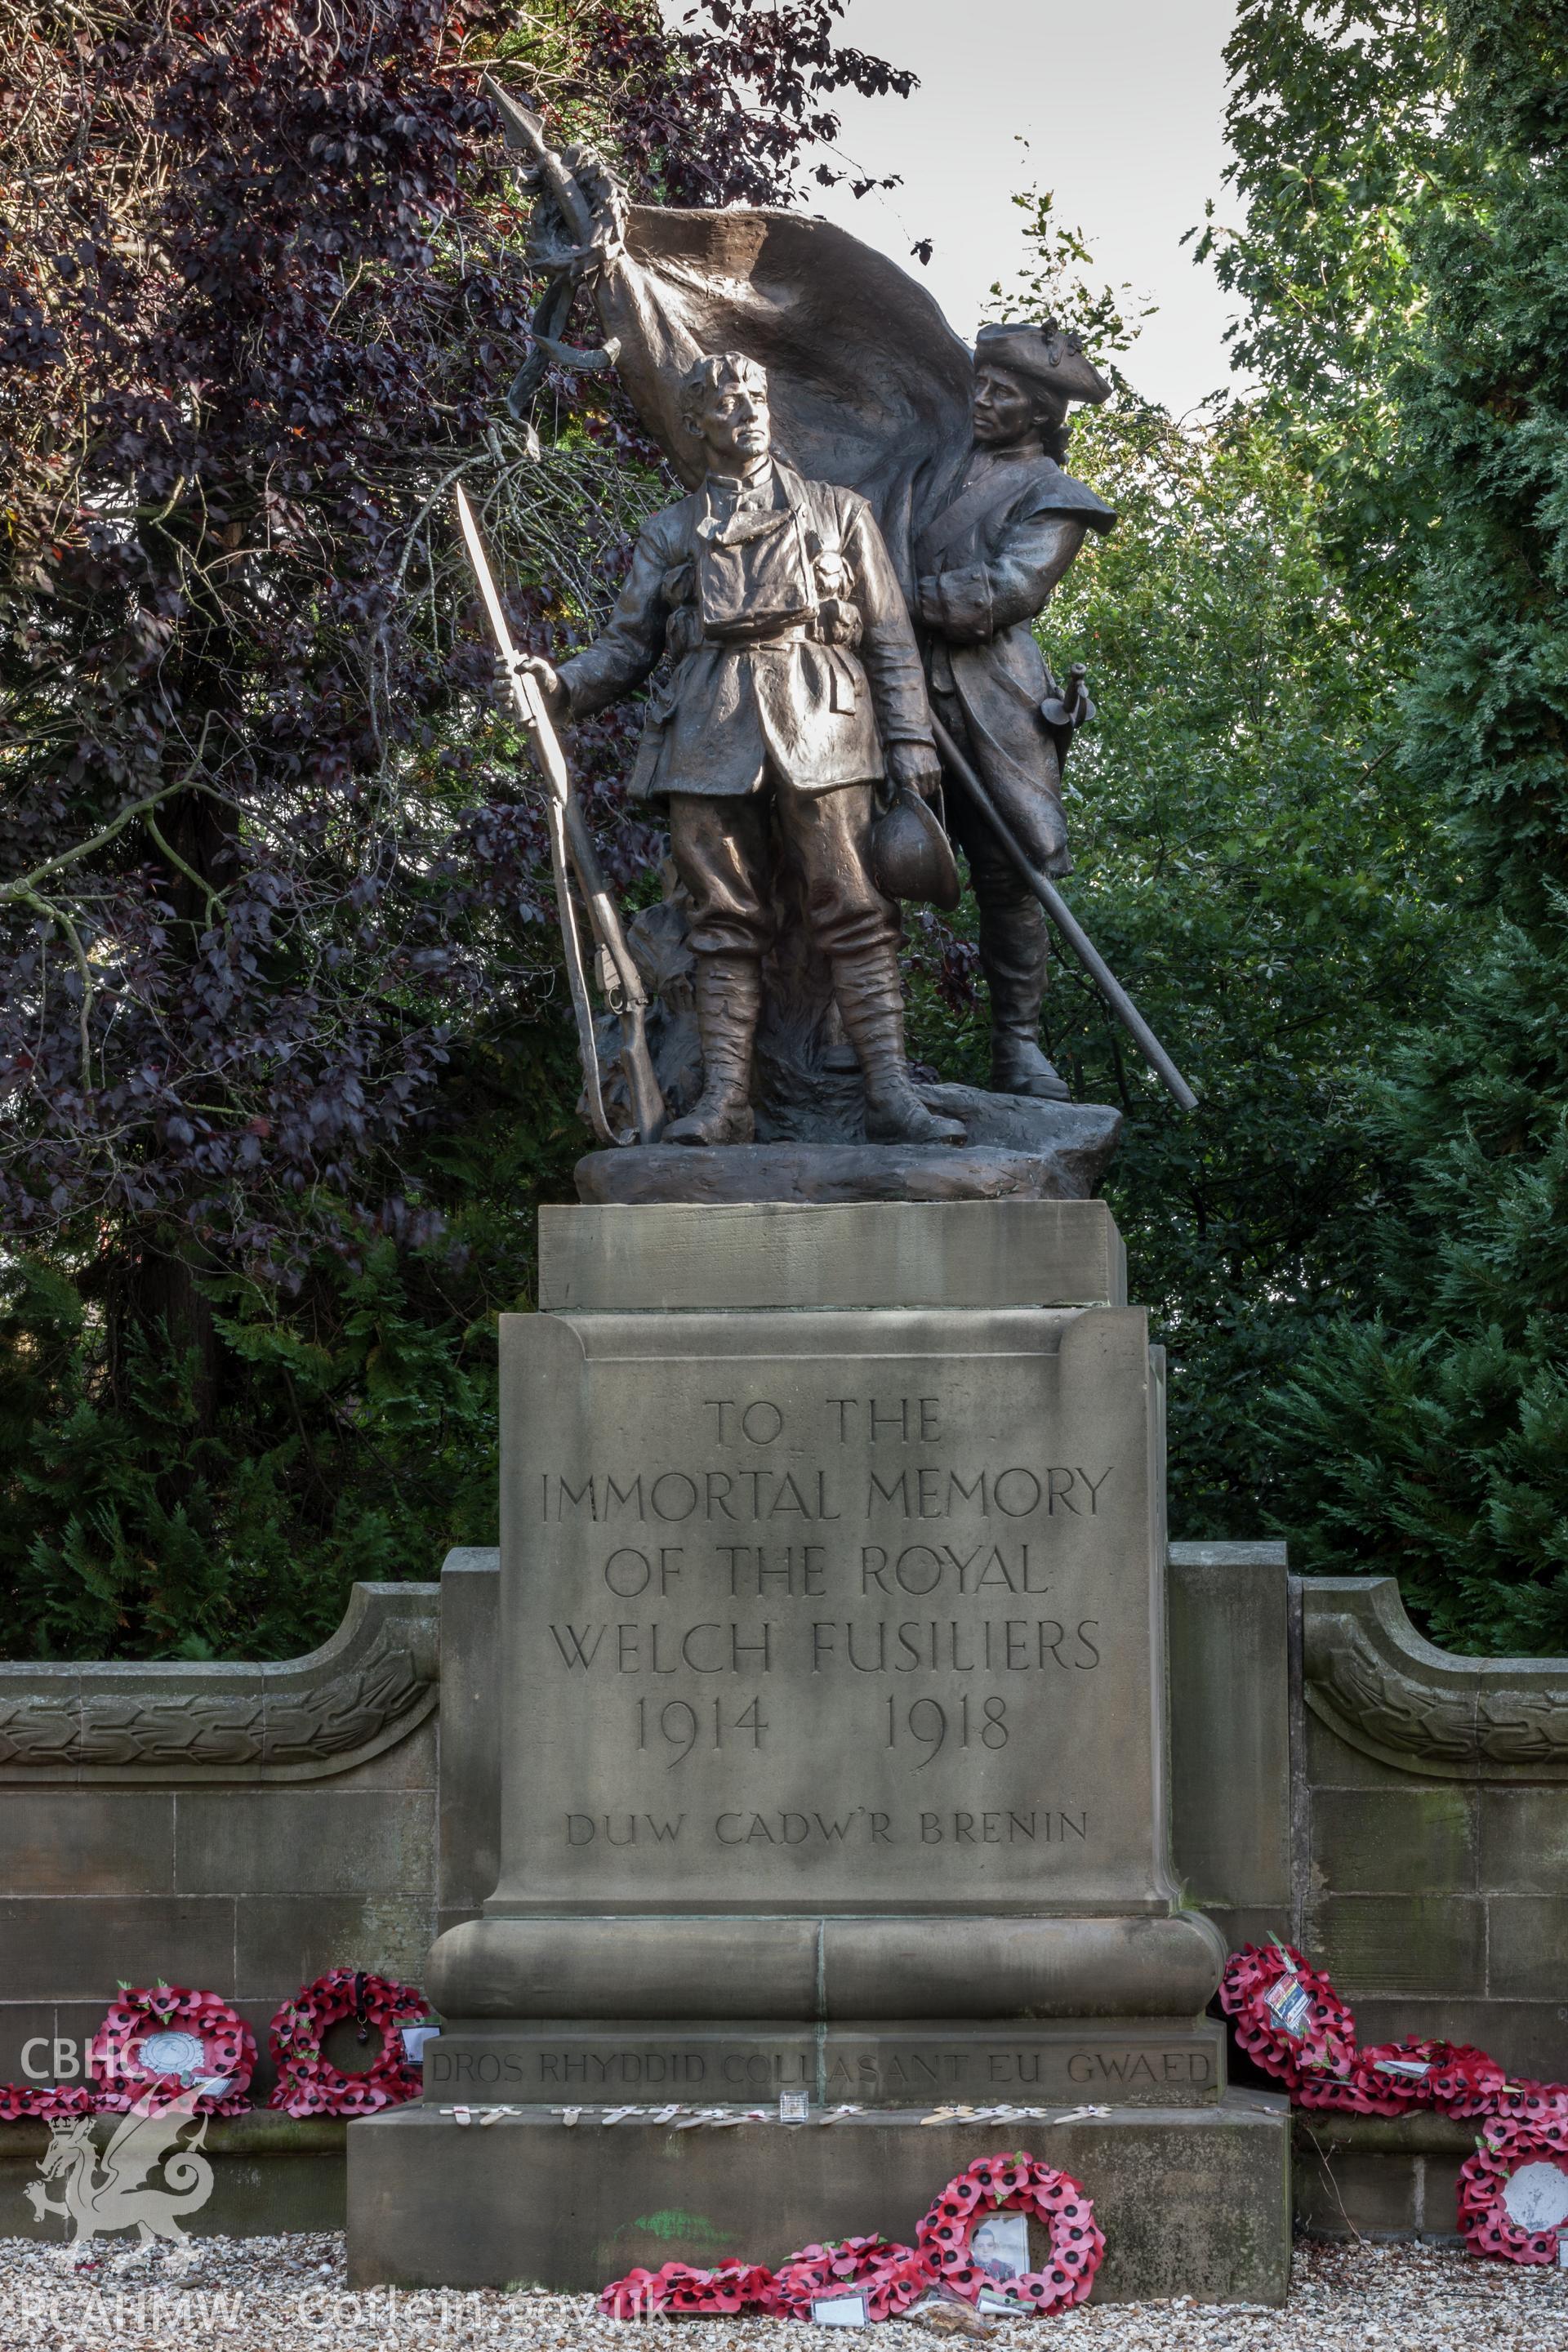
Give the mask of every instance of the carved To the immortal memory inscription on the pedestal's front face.
[[701, 1395], [661, 1461], [527, 1472], [571, 1562], [536, 1663], [630, 1799], [597, 1773], [557, 1851], [1093, 1849], [1093, 1792], [1041, 1783], [1039, 1731], [1105, 1665], [1084, 1562], [1117, 1465], [976, 1421], [938, 1385]]

